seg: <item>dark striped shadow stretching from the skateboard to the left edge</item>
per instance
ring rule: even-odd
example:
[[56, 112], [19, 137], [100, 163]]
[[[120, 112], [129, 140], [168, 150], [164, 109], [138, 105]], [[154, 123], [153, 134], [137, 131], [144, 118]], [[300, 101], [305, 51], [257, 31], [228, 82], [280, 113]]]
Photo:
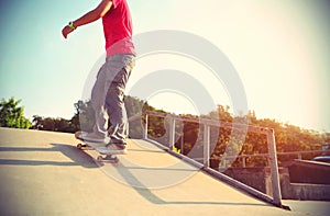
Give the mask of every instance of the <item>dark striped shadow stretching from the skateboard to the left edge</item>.
[[20, 160], [20, 159], [0, 159], [0, 164], [12, 164], [12, 166], [80, 166], [85, 168], [98, 168], [94, 159], [86, 154], [77, 149], [74, 146], [65, 144], [51, 144], [52, 148], [31, 148], [31, 147], [0, 147], [0, 152], [12, 151], [12, 152], [62, 152], [67, 158], [72, 159], [72, 162], [64, 161], [38, 161], [38, 160]]

